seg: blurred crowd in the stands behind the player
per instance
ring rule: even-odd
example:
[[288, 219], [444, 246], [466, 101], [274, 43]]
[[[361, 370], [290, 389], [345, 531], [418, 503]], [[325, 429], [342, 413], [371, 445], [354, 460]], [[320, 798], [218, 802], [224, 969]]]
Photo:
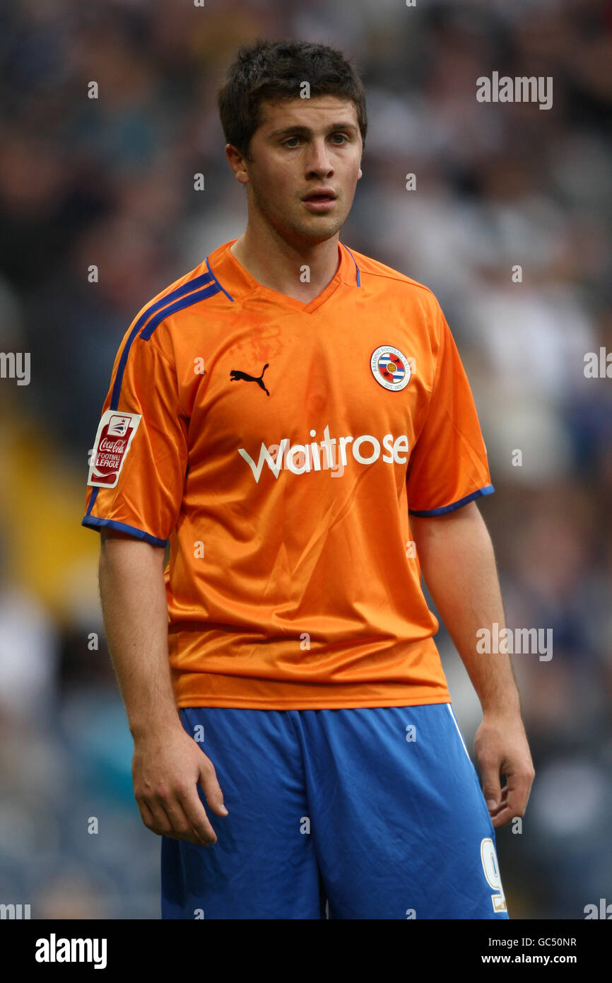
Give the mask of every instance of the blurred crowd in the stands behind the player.
[[[508, 624], [553, 630], [550, 661], [514, 659], [536, 777], [523, 832], [497, 833], [510, 915], [582, 919], [612, 901], [612, 378], [584, 375], [612, 352], [609, 0], [2, 5], [0, 350], [29, 352], [31, 379], [0, 379], [0, 901], [159, 917], [160, 840], [80, 524], [87, 452], [139, 308], [244, 230], [215, 87], [258, 35], [340, 47], [362, 72], [341, 241], [437, 295], [489, 454]], [[552, 77], [552, 108], [477, 102], [493, 71]], [[473, 756], [479, 705], [436, 641]]]

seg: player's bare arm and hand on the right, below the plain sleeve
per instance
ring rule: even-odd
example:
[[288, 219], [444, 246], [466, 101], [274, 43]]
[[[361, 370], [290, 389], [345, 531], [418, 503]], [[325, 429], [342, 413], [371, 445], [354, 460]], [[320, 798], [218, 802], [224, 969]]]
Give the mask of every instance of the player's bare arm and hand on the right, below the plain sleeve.
[[475, 502], [410, 523], [425, 583], [482, 707], [474, 753], [493, 826], [504, 826], [525, 815], [534, 771], [510, 657], [476, 652], [479, 628], [505, 627], [491, 539]]

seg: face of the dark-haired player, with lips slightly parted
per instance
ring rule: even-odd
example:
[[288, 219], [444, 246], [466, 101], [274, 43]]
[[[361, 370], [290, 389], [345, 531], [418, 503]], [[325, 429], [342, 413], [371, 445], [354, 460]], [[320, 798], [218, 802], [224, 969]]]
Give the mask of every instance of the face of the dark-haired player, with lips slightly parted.
[[[315, 245], [344, 224], [362, 177], [362, 134], [350, 99], [321, 95], [264, 102], [262, 123], [250, 141], [250, 160], [226, 146], [234, 173], [249, 185], [250, 217], [267, 222], [285, 240]], [[308, 204], [325, 189], [336, 197]], [[254, 217], [254, 216], [253, 216]]]

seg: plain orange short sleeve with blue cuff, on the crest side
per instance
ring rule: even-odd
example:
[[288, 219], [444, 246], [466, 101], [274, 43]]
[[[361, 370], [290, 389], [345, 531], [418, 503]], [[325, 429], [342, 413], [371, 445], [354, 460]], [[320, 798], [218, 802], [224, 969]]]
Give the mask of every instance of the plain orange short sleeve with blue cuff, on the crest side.
[[495, 491], [468, 376], [441, 311], [439, 318], [431, 396], [406, 480], [409, 512], [417, 516], [443, 515]]

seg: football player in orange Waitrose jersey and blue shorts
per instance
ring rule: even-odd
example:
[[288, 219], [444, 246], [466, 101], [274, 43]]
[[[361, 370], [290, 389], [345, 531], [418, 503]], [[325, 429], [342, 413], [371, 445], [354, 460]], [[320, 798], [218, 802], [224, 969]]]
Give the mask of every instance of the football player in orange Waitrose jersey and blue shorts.
[[509, 658], [476, 651], [504, 612], [455, 341], [339, 241], [366, 133], [340, 51], [258, 39], [218, 105], [247, 227], [127, 331], [83, 518], [162, 917], [507, 918], [495, 828], [533, 767]]

